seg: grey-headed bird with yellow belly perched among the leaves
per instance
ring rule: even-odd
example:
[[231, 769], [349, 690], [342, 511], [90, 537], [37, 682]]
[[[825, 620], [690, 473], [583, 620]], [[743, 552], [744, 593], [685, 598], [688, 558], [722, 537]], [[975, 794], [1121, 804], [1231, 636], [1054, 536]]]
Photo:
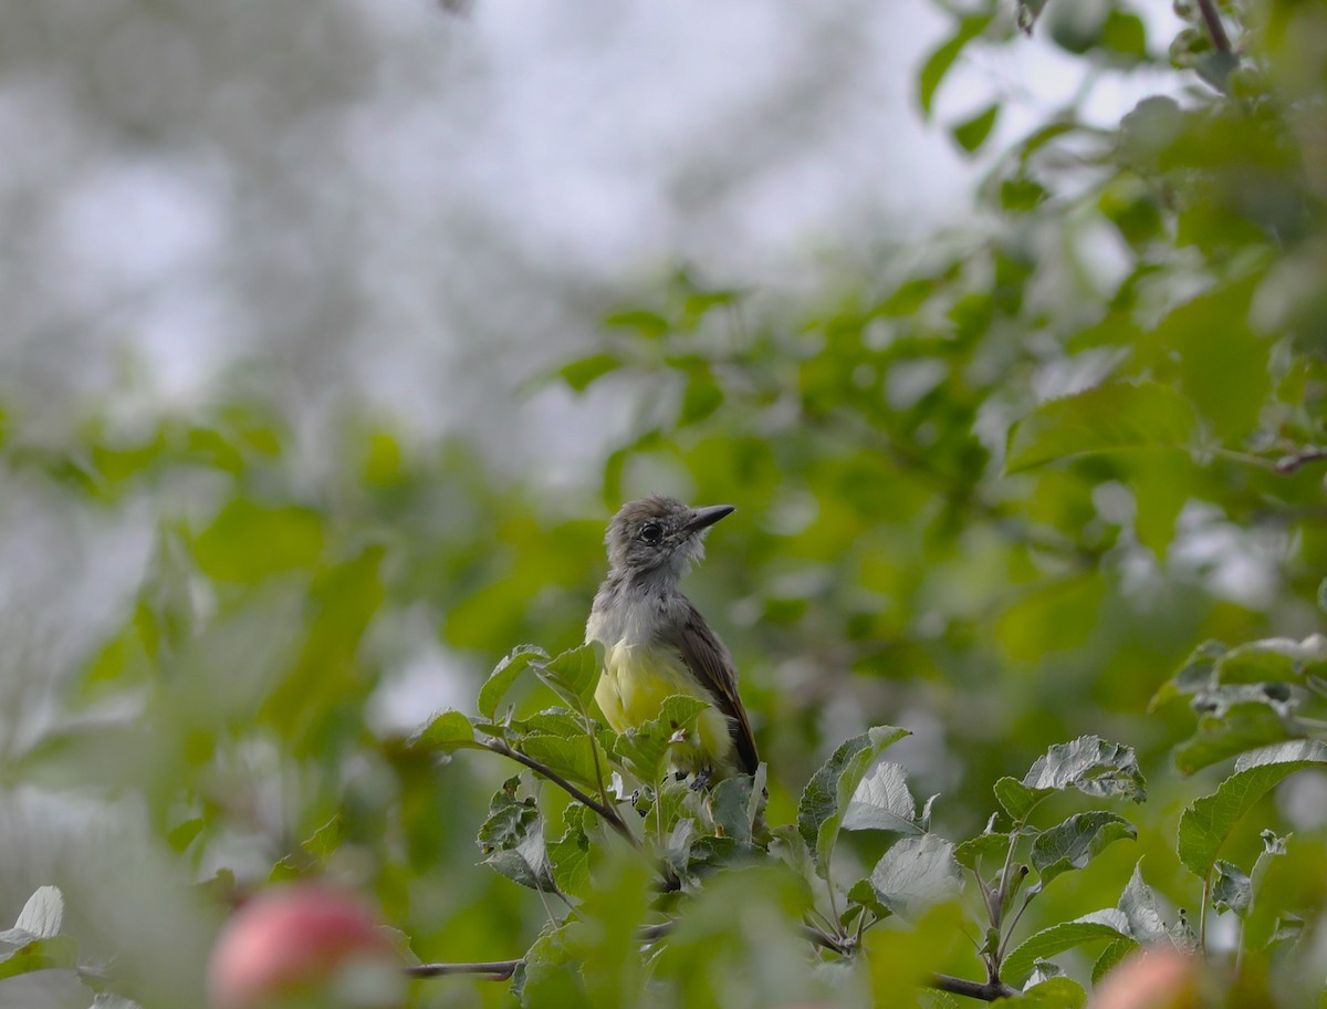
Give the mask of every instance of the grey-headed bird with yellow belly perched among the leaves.
[[733, 511], [731, 504], [691, 508], [658, 495], [624, 504], [604, 536], [608, 578], [585, 624], [585, 640], [604, 645], [594, 700], [614, 732], [657, 718], [671, 694], [713, 705], [669, 750], [669, 769], [694, 774], [695, 787], [738, 771], [755, 774], [760, 762], [733, 656], [677, 585], [705, 556], [710, 526]]

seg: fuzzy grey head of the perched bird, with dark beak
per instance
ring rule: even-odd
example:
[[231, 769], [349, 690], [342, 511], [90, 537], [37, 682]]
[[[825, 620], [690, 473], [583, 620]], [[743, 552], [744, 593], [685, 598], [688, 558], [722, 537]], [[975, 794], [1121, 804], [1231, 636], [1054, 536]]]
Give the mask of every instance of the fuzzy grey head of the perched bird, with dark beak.
[[681, 576], [687, 564], [705, 556], [710, 526], [734, 511], [731, 504], [693, 508], [661, 495], [633, 501], [608, 524], [608, 560], [626, 574]]

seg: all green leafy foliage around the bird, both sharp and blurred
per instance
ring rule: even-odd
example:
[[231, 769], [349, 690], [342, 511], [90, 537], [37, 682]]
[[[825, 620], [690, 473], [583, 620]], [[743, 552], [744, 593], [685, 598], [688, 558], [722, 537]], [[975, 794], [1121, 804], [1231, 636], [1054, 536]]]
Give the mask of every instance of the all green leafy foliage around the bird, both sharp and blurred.
[[[679, 271], [544, 377], [638, 404], [608, 508], [740, 504], [689, 592], [754, 779], [666, 775], [694, 698], [597, 717], [587, 502], [364, 418], [311, 475], [240, 396], [60, 443], [5, 417], [13, 486], [111, 526], [146, 504], [154, 539], [123, 619], [49, 670], [57, 716], [5, 716], [8, 790], [117, 826], [24, 882], [0, 985], [200, 1004], [230, 901], [334, 875], [415, 956], [511, 980], [413, 1004], [1080, 1005], [1157, 945], [1222, 1004], [1319, 998], [1327, 834], [1294, 789], [1327, 765], [1327, 15], [1177, 3], [1162, 44], [1125, 3], [1042, 8], [954, 8], [921, 113], [1019, 29], [1168, 93], [1105, 129], [1084, 88], [987, 155], [997, 96], [947, 123], [990, 157], [961, 231], [798, 300]], [[394, 724], [439, 652], [466, 712]]]

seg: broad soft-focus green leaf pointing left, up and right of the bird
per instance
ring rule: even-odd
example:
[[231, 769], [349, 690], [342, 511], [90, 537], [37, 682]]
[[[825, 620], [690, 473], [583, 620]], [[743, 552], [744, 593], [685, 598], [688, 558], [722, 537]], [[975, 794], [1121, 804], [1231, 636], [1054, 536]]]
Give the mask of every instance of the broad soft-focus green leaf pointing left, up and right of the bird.
[[1194, 433], [1188, 400], [1156, 382], [1111, 382], [1051, 400], [1009, 431], [1005, 473], [1129, 449], [1185, 449]]

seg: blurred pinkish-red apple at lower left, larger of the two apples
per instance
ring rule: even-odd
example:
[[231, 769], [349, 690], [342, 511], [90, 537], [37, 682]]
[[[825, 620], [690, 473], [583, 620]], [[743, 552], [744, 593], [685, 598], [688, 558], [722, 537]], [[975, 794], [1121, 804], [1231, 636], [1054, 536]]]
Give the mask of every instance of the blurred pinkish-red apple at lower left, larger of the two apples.
[[399, 957], [353, 895], [291, 886], [248, 901], [222, 929], [207, 970], [212, 1009], [386, 1006], [399, 1000]]

